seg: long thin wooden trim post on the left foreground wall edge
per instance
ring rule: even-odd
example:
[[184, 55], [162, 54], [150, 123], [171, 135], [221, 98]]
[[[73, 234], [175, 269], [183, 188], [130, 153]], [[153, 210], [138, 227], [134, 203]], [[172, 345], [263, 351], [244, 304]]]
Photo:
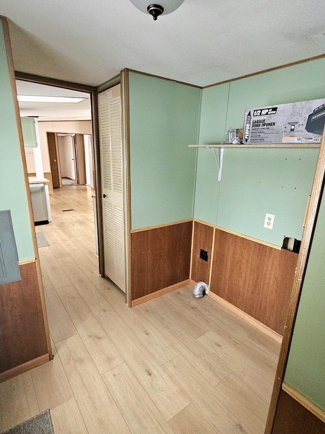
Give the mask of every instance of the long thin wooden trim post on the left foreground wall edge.
[[46, 314], [44, 288], [43, 288], [43, 281], [42, 281], [42, 275], [41, 275], [40, 258], [39, 258], [37, 242], [36, 242], [34, 218], [32, 215], [32, 208], [31, 208], [31, 199], [30, 199], [28, 175], [27, 175], [27, 165], [26, 165], [26, 159], [25, 159], [24, 142], [23, 142], [23, 137], [22, 137], [20, 113], [19, 113], [18, 100], [17, 100], [15, 71], [14, 71], [14, 63], [13, 63], [13, 58], [12, 58], [11, 44], [10, 44], [9, 26], [8, 26], [8, 20], [6, 17], [1, 17], [1, 19], [3, 22], [3, 28], [4, 28], [5, 44], [6, 44], [7, 59], [8, 59], [8, 66], [9, 66], [10, 82], [11, 82], [11, 91], [12, 91], [12, 96], [13, 96], [13, 104], [14, 104], [14, 109], [15, 109], [15, 117], [16, 117], [18, 139], [19, 139], [19, 146], [20, 146], [20, 155], [21, 155], [21, 161], [22, 161], [22, 167], [23, 167], [25, 191], [26, 191], [28, 213], [29, 213], [29, 224], [30, 224], [30, 229], [31, 229], [30, 232], [31, 232], [31, 237], [32, 237], [32, 244], [34, 247], [35, 258], [36, 258], [36, 269], [37, 269], [37, 277], [38, 277], [40, 298], [41, 298], [42, 311], [43, 311], [47, 349], [48, 349], [49, 358], [51, 360], [51, 359], [53, 359], [53, 353], [52, 353], [52, 348], [51, 348], [50, 331], [49, 331], [47, 314]]

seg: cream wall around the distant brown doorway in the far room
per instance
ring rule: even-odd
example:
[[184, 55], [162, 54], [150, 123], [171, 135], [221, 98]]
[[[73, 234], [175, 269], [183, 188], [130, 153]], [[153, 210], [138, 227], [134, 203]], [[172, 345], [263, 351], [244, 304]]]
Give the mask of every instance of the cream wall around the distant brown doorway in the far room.
[[[49, 151], [47, 146], [47, 137], [46, 137], [47, 132], [92, 134], [91, 121], [50, 121], [50, 122], [39, 121], [38, 126], [40, 132], [44, 172], [51, 171]], [[28, 156], [27, 154], [27, 152], [30, 150], [33, 150], [33, 148], [25, 148], [27, 171], [29, 173], [34, 173], [35, 172], [34, 158], [31, 159], [30, 157], [33, 156]]]

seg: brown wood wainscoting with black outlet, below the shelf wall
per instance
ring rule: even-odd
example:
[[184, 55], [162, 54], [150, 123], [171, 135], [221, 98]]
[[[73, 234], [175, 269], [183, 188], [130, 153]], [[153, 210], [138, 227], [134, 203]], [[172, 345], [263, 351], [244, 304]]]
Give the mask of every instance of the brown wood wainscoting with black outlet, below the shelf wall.
[[266, 244], [195, 221], [191, 282], [209, 283], [212, 298], [282, 335], [298, 254]]

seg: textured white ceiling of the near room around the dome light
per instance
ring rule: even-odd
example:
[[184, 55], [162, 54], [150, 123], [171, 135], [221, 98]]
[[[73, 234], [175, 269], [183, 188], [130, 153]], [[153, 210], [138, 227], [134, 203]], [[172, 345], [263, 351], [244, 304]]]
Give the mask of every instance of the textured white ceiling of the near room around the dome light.
[[[149, 3], [148, 3], [149, 4]], [[325, 53], [324, 0], [2, 0], [17, 71], [99, 85], [131, 68], [197, 85]]]

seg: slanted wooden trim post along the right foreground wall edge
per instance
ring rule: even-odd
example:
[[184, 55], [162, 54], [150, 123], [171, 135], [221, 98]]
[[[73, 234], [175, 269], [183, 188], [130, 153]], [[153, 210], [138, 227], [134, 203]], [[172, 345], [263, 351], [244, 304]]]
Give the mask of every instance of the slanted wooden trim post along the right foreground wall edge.
[[303, 237], [300, 246], [298, 264], [296, 269], [293, 290], [291, 292], [287, 321], [284, 327], [283, 339], [280, 349], [280, 356], [273, 385], [272, 397], [269, 407], [265, 434], [272, 434], [276, 409], [280, 397], [281, 387], [284, 379], [286, 363], [290, 349], [290, 343], [293, 336], [294, 325], [298, 310], [299, 298], [305, 277], [308, 256], [310, 252], [312, 237], [314, 234], [315, 224], [317, 220], [320, 200], [325, 182], [325, 128], [323, 130], [322, 140], [320, 144], [314, 181], [311, 189], [311, 196], [307, 211], [306, 224], [303, 232]]

